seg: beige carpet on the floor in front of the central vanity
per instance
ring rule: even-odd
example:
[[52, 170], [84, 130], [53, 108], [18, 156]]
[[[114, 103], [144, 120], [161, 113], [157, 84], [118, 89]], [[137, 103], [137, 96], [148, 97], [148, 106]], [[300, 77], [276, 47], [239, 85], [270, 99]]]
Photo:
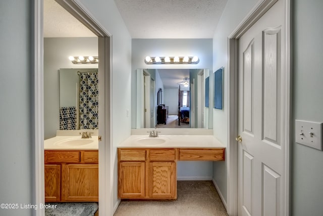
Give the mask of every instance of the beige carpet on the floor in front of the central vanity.
[[121, 201], [114, 216], [228, 215], [211, 181], [178, 181], [177, 200]]

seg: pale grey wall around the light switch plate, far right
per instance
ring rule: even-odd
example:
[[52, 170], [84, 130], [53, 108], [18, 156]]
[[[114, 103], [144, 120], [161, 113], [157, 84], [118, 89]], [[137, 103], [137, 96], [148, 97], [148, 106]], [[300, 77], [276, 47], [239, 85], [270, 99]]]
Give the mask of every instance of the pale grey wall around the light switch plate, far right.
[[[323, 122], [323, 1], [293, 2], [294, 119]], [[294, 141], [292, 152], [292, 215], [322, 215], [323, 151]]]

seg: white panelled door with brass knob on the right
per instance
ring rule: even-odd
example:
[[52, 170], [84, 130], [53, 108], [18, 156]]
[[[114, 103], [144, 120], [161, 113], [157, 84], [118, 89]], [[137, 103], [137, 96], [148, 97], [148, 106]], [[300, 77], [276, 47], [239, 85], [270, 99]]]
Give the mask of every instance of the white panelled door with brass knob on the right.
[[284, 215], [284, 4], [239, 38], [238, 215]]

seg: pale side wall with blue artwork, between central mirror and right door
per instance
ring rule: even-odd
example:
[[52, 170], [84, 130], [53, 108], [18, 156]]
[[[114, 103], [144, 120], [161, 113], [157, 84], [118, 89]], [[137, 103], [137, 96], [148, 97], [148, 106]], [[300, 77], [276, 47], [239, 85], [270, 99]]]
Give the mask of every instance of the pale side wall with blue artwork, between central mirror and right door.
[[[220, 22], [213, 37], [213, 71], [224, 67], [224, 106], [222, 110], [213, 111], [213, 134], [224, 145], [227, 145], [227, 104], [228, 104], [228, 50], [227, 39], [231, 32], [256, 4], [257, 0], [228, 0]], [[210, 71], [211, 73], [211, 71]], [[210, 79], [211, 80], [211, 79]], [[210, 105], [211, 106], [211, 105]], [[216, 182], [223, 198], [227, 200], [227, 163], [213, 162], [213, 179]]]

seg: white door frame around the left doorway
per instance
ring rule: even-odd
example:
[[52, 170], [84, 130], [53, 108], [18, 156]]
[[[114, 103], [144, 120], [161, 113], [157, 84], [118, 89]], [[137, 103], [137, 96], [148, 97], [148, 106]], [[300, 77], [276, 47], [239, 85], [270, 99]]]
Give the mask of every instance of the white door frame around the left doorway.
[[[112, 34], [109, 33], [96, 18], [77, 0], [56, 0], [64, 9], [98, 36], [99, 85], [103, 103], [99, 103], [100, 119], [104, 119], [99, 128], [102, 141], [99, 145], [99, 214], [112, 215], [113, 206], [113, 157], [111, 134], [111, 80], [112, 80]], [[34, 0], [34, 123], [35, 123], [35, 151], [34, 151], [34, 191], [35, 204], [45, 203], [44, 199], [44, 93], [43, 93], [43, 0]], [[44, 209], [34, 209], [33, 215], [43, 216]]]

